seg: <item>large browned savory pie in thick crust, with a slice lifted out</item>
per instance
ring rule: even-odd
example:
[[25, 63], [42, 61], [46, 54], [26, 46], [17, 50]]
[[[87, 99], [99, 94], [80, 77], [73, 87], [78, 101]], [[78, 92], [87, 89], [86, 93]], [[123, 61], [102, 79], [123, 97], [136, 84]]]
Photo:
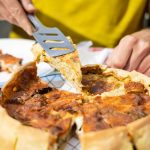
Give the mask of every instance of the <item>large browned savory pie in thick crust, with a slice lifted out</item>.
[[[34, 62], [3, 87], [2, 150], [55, 150], [76, 126], [83, 150], [149, 150], [150, 78], [105, 66], [84, 66], [83, 92], [53, 89]], [[98, 83], [98, 84], [97, 84]]]

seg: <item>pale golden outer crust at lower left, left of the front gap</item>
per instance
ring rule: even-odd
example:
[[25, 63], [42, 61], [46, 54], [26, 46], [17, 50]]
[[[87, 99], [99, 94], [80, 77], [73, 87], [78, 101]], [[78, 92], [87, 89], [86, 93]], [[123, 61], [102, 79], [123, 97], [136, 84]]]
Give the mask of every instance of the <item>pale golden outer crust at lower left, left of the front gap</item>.
[[2, 150], [48, 150], [50, 142], [52, 142], [51, 146], [54, 146], [54, 139], [50, 138], [49, 133], [22, 125], [11, 118], [2, 107], [0, 107], [0, 120]]

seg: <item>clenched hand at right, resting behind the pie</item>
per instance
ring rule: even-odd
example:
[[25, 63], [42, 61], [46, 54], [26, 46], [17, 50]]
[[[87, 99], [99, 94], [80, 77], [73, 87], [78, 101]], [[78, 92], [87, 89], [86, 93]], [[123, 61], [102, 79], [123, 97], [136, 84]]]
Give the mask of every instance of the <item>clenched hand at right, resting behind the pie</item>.
[[150, 29], [122, 38], [106, 60], [113, 68], [136, 70], [150, 76]]

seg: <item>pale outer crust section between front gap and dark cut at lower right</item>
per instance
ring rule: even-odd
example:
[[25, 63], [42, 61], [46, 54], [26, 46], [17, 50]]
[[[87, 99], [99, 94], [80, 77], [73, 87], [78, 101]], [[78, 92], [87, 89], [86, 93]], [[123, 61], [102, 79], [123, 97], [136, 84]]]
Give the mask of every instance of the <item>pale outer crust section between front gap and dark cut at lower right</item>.
[[79, 135], [82, 150], [133, 150], [125, 127]]

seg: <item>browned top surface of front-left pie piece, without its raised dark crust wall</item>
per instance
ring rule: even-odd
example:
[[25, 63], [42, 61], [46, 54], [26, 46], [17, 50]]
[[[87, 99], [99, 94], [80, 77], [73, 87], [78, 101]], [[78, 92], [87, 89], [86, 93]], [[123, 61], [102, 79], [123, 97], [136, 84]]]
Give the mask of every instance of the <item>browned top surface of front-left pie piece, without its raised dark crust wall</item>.
[[68, 132], [72, 115], [80, 112], [81, 95], [35, 86], [33, 84], [28, 88], [29, 95], [20, 96], [18, 92], [3, 104], [9, 115], [25, 125], [50, 131], [54, 135]]

